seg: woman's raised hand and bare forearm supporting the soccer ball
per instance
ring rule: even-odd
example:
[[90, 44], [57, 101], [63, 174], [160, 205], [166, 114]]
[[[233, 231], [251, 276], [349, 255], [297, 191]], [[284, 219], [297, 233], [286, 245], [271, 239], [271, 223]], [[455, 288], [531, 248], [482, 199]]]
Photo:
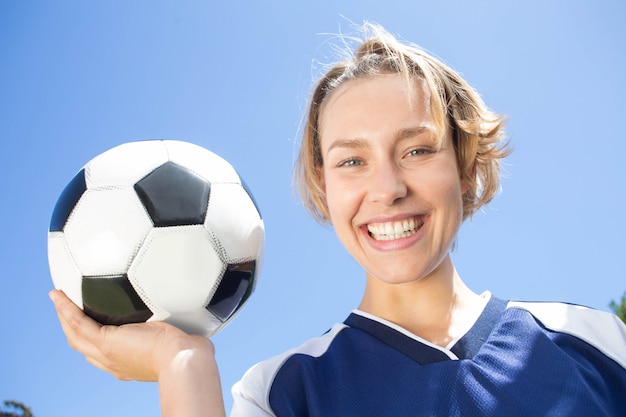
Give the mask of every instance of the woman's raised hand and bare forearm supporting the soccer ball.
[[166, 323], [102, 326], [51, 291], [68, 343], [118, 379], [158, 381], [163, 417], [225, 416], [213, 343]]

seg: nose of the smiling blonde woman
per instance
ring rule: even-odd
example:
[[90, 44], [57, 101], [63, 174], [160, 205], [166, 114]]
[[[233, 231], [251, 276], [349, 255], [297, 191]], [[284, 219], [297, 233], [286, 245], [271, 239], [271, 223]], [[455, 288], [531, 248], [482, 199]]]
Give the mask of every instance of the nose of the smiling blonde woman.
[[372, 171], [369, 198], [372, 203], [391, 206], [408, 192], [402, 169], [393, 162], [378, 164]]

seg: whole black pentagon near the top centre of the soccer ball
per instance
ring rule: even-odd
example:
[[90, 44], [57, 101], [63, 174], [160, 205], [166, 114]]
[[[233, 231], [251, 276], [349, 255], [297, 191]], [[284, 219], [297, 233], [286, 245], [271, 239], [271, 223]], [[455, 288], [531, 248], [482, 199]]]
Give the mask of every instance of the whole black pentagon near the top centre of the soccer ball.
[[204, 223], [211, 184], [185, 167], [166, 162], [135, 184], [155, 227]]

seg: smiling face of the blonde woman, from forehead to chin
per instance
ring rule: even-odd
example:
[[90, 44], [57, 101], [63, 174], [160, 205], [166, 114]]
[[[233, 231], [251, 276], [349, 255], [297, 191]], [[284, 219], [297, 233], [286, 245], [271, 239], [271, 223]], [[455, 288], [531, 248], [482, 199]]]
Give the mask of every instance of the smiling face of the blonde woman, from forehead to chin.
[[323, 105], [322, 187], [330, 220], [368, 278], [404, 283], [436, 274], [462, 222], [449, 135], [438, 144], [429, 98], [409, 102], [399, 75], [347, 81]]

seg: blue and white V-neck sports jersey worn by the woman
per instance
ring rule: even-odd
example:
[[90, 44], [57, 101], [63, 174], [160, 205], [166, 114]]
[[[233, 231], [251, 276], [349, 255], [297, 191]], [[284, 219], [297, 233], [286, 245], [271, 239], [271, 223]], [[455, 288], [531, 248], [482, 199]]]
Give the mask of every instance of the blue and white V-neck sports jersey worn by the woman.
[[494, 297], [449, 348], [355, 310], [252, 367], [231, 416], [626, 416], [626, 326]]

